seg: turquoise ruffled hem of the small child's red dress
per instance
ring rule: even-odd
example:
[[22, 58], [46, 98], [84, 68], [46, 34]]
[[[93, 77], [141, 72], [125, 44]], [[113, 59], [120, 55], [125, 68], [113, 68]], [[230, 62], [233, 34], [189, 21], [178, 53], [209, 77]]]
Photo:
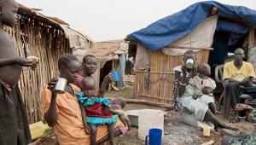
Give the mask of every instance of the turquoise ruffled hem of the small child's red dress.
[[86, 121], [93, 125], [106, 125], [114, 124], [119, 119], [118, 115], [113, 115], [113, 118], [97, 118], [97, 117], [87, 117]]

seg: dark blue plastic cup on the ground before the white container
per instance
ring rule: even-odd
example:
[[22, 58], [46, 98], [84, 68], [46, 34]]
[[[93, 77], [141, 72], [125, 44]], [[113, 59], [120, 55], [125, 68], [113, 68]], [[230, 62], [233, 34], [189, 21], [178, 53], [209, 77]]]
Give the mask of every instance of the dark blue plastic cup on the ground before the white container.
[[148, 137], [149, 137], [149, 145], [161, 145], [162, 144], [162, 130], [150, 129], [149, 135], [146, 136], [146, 141], [145, 141], [146, 145], [148, 145]]

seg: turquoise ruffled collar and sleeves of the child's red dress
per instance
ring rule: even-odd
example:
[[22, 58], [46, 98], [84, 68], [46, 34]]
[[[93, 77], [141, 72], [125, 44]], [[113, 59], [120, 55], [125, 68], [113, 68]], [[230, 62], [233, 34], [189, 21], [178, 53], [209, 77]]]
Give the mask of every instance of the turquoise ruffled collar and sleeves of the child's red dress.
[[91, 99], [87, 96], [84, 96], [82, 92], [77, 92], [75, 95], [78, 96], [79, 103], [82, 104], [84, 107], [91, 106], [97, 102], [107, 106], [110, 104], [110, 101], [108, 98], [95, 97]]

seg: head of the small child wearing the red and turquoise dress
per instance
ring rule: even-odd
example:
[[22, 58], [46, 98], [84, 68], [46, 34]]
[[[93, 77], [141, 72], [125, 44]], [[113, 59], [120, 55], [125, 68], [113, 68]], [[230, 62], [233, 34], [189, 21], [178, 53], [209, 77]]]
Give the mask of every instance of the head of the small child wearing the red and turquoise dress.
[[82, 80], [82, 90], [84, 96], [93, 96], [95, 91], [95, 80], [92, 77], [84, 77]]

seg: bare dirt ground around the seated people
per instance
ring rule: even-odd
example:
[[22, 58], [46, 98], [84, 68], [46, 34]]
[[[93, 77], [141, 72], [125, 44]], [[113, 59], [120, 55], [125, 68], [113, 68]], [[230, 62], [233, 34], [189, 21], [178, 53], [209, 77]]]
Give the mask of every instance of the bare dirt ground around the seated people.
[[[108, 97], [124, 97], [124, 98], [133, 98], [134, 90], [132, 86], [125, 86], [124, 89], [119, 91], [108, 91], [106, 93]], [[127, 104], [125, 110], [133, 110], [133, 109], [143, 109], [143, 108], [153, 108], [153, 109], [161, 109], [157, 107], [148, 107], [144, 105], [135, 105], [135, 104]], [[222, 114], [218, 114], [218, 118], [222, 119]], [[229, 124], [227, 120], [222, 119], [226, 124]], [[232, 124], [233, 126], [238, 127], [244, 133], [249, 133], [253, 130], [253, 125], [246, 121], [241, 121], [236, 124]], [[163, 138], [163, 145], [197, 145], [203, 142], [209, 142], [210, 140], [214, 140], [214, 144], [220, 144], [223, 136], [220, 135], [217, 131], [211, 131], [210, 137], [202, 136], [201, 129], [197, 129], [195, 127], [191, 127], [189, 125], [184, 125], [180, 122], [180, 114], [172, 111], [168, 113], [168, 117], [165, 119], [165, 135]], [[131, 131], [128, 131], [125, 135], [119, 136], [116, 138], [118, 145], [141, 145], [145, 144], [137, 137], [138, 131], [137, 127], [132, 127]], [[49, 133], [47, 137], [39, 142], [38, 144], [43, 145], [53, 145], [55, 140], [55, 136], [52, 132]], [[105, 143], [108, 144], [108, 143]]]

